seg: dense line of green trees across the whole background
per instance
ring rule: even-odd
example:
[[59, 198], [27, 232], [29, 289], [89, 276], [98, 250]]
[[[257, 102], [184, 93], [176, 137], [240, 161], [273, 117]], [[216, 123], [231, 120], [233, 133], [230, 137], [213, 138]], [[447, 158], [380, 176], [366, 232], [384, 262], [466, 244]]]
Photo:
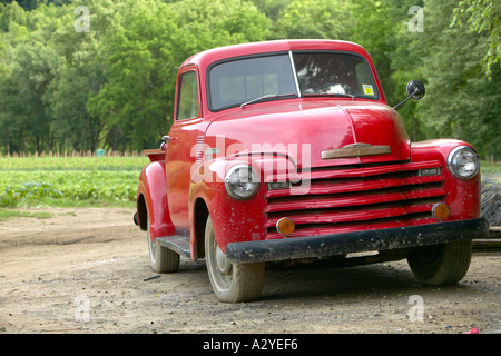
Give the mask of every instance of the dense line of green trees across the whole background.
[[0, 0], [0, 154], [141, 150], [173, 122], [178, 66], [204, 49], [328, 38], [362, 44], [412, 140], [499, 159], [501, 3], [487, 0]]

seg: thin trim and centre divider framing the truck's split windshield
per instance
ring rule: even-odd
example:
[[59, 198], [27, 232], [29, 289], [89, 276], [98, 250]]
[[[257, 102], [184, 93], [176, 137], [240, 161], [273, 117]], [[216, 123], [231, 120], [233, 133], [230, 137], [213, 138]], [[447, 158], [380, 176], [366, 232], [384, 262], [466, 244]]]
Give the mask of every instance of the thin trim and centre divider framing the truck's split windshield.
[[[274, 100], [287, 100], [287, 99], [297, 99], [297, 98], [315, 98], [315, 97], [332, 97], [332, 98], [342, 98], [342, 97], [335, 97], [335, 96], [328, 96], [328, 95], [303, 95], [301, 91], [301, 87], [299, 87], [299, 82], [297, 79], [297, 72], [296, 72], [296, 65], [294, 62], [294, 53], [341, 53], [341, 55], [351, 55], [351, 56], [356, 56], [358, 58], [361, 58], [363, 60], [363, 62], [365, 63], [366, 68], [369, 69], [369, 75], [371, 76], [371, 79], [373, 80], [374, 85], [375, 85], [375, 89], [376, 89], [376, 96], [374, 97], [369, 97], [369, 96], [354, 96], [356, 99], [365, 99], [365, 100], [372, 100], [372, 101], [379, 101], [381, 100], [381, 92], [380, 92], [380, 88], [379, 88], [379, 81], [376, 80], [376, 78], [374, 77], [374, 72], [373, 72], [373, 68], [370, 66], [367, 59], [365, 58], [365, 56], [357, 53], [357, 52], [353, 52], [353, 51], [346, 51], [346, 50], [317, 50], [317, 49], [297, 49], [297, 50], [287, 50], [287, 51], [276, 51], [276, 52], [263, 52], [263, 53], [253, 53], [253, 55], [245, 55], [245, 56], [236, 56], [236, 57], [230, 57], [230, 58], [225, 58], [222, 60], [217, 60], [213, 63], [210, 63], [207, 67], [205, 77], [206, 77], [206, 91], [207, 91], [207, 107], [209, 109], [210, 112], [219, 112], [223, 110], [227, 110], [227, 109], [232, 109], [232, 108], [238, 108], [240, 107], [242, 103], [234, 103], [234, 105], [229, 105], [229, 106], [225, 106], [225, 107], [220, 107], [215, 109], [213, 107], [212, 103], [212, 90], [210, 90], [210, 72], [213, 70], [214, 67], [217, 67], [219, 65], [223, 63], [227, 63], [227, 62], [233, 62], [233, 61], [238, 61], [238, 60], [245, 60], [245, 59], [252, 59], [252, 58], [264, 58], [264, 57], [274, 57], [274, 56], [283, 56], [283, 55], [287, 55], [289, 57], [291, 60], [291, 67], [293, 70], [293, 76], [294, 76], [294, 85], [295, 85], [295, 89], [296, 89], [296, 96], [277, 96], [274, 98], [268, 98], [268, 100], [262, 100], [262, 102], [265, 101], [274, 101]], [[285, 98], [285, 99], [284, 99]]]

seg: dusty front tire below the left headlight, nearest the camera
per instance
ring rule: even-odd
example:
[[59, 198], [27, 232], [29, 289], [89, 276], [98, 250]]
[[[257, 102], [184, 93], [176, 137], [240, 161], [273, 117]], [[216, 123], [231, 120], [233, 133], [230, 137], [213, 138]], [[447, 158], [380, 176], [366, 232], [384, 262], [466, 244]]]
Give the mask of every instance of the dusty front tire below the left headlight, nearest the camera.
[[217, 246], [210, 216], [205, 228], [205, 259], [210, 284], [220, 301], [250, 301], [261, 296], [265, 264], [230, 263]]

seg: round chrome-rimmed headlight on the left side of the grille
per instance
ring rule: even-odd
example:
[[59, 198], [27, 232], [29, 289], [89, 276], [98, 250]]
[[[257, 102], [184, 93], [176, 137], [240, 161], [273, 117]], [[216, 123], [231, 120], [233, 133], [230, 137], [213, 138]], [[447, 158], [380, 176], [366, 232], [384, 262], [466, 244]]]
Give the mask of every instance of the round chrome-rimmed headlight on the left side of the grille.
[[259, 188], [259, 176], [248, 165], [233, 166], [226, 172], [225, 188], [232, 198], [238, 200], [250, 199]]

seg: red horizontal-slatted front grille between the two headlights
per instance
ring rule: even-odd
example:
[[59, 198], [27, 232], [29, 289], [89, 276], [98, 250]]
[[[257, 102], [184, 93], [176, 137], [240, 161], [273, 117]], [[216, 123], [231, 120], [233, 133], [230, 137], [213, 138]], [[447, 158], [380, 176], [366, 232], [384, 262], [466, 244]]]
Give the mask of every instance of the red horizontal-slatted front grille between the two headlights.
[[[296, 230], [289, 237], [315, 236], [436, 222], [431, 210], [444, 201], [441, 171], [420, 176], [420, 170], [440, 168], [439, 161], [386, 165], [352, 169], [318, 169], [299, 185], [267, 191], [267, 238], [282, 238], [275, 230], [289, 217]], [[305, 184], [310, 185], [307, 194]]]

